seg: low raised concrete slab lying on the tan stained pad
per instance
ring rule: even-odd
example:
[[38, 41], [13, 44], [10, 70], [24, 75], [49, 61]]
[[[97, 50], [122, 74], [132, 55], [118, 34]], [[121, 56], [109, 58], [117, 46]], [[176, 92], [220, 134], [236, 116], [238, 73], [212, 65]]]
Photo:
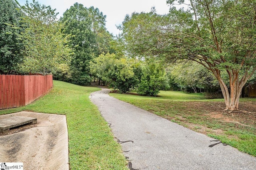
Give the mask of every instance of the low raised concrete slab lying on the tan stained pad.
[[26, 125], [28, 123], [36, 124], [37, 119], [34, 117], [23, 116], [14, 116], [6, 119], [1, 119], [0, 117], [0, 132], [6, 132], [10, 130], [10, 128]]

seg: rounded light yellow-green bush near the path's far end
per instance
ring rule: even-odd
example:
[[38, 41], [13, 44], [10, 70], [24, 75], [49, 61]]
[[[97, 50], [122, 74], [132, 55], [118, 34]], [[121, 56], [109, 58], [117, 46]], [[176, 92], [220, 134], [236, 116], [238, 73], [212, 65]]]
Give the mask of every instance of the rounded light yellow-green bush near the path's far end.
[[121, 93], [126, 93], [139, 82], [140, 64], [136, 59], [116, 57], [114, 53], [101, 54], [90, 63], [91, 73]]

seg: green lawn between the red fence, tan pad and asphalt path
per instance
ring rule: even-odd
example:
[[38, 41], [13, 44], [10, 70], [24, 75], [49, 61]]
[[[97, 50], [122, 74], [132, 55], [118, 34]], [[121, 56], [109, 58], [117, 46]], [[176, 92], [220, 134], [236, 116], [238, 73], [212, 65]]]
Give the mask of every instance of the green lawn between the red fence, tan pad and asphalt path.
[[26, 107], [2, 110], [0, 115], [19, 111], [66, 115], [71, 170], [127, 170], [121, 146], [88, 98], [98, 90], [54, 81], [54, 88], [47, 95]]

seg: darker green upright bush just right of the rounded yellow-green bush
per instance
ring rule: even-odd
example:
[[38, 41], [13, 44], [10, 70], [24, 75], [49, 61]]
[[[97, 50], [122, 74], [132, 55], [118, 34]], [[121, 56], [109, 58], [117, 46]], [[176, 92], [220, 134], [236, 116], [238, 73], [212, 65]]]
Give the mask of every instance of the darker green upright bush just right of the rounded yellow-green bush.
[[139, 95], [156, 96], [160, 89], [169, 88], [166, 73], [159, 64], [151, 63], [142, 69], [142, 77], [137, 89]]

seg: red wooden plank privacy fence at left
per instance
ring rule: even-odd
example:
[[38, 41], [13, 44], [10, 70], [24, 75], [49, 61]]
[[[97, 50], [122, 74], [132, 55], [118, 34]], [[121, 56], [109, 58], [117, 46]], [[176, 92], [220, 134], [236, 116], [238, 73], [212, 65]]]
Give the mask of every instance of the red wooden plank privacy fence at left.
[[0, 109], [26, 106], [52, 86], [52, 75], [0, 75]]

